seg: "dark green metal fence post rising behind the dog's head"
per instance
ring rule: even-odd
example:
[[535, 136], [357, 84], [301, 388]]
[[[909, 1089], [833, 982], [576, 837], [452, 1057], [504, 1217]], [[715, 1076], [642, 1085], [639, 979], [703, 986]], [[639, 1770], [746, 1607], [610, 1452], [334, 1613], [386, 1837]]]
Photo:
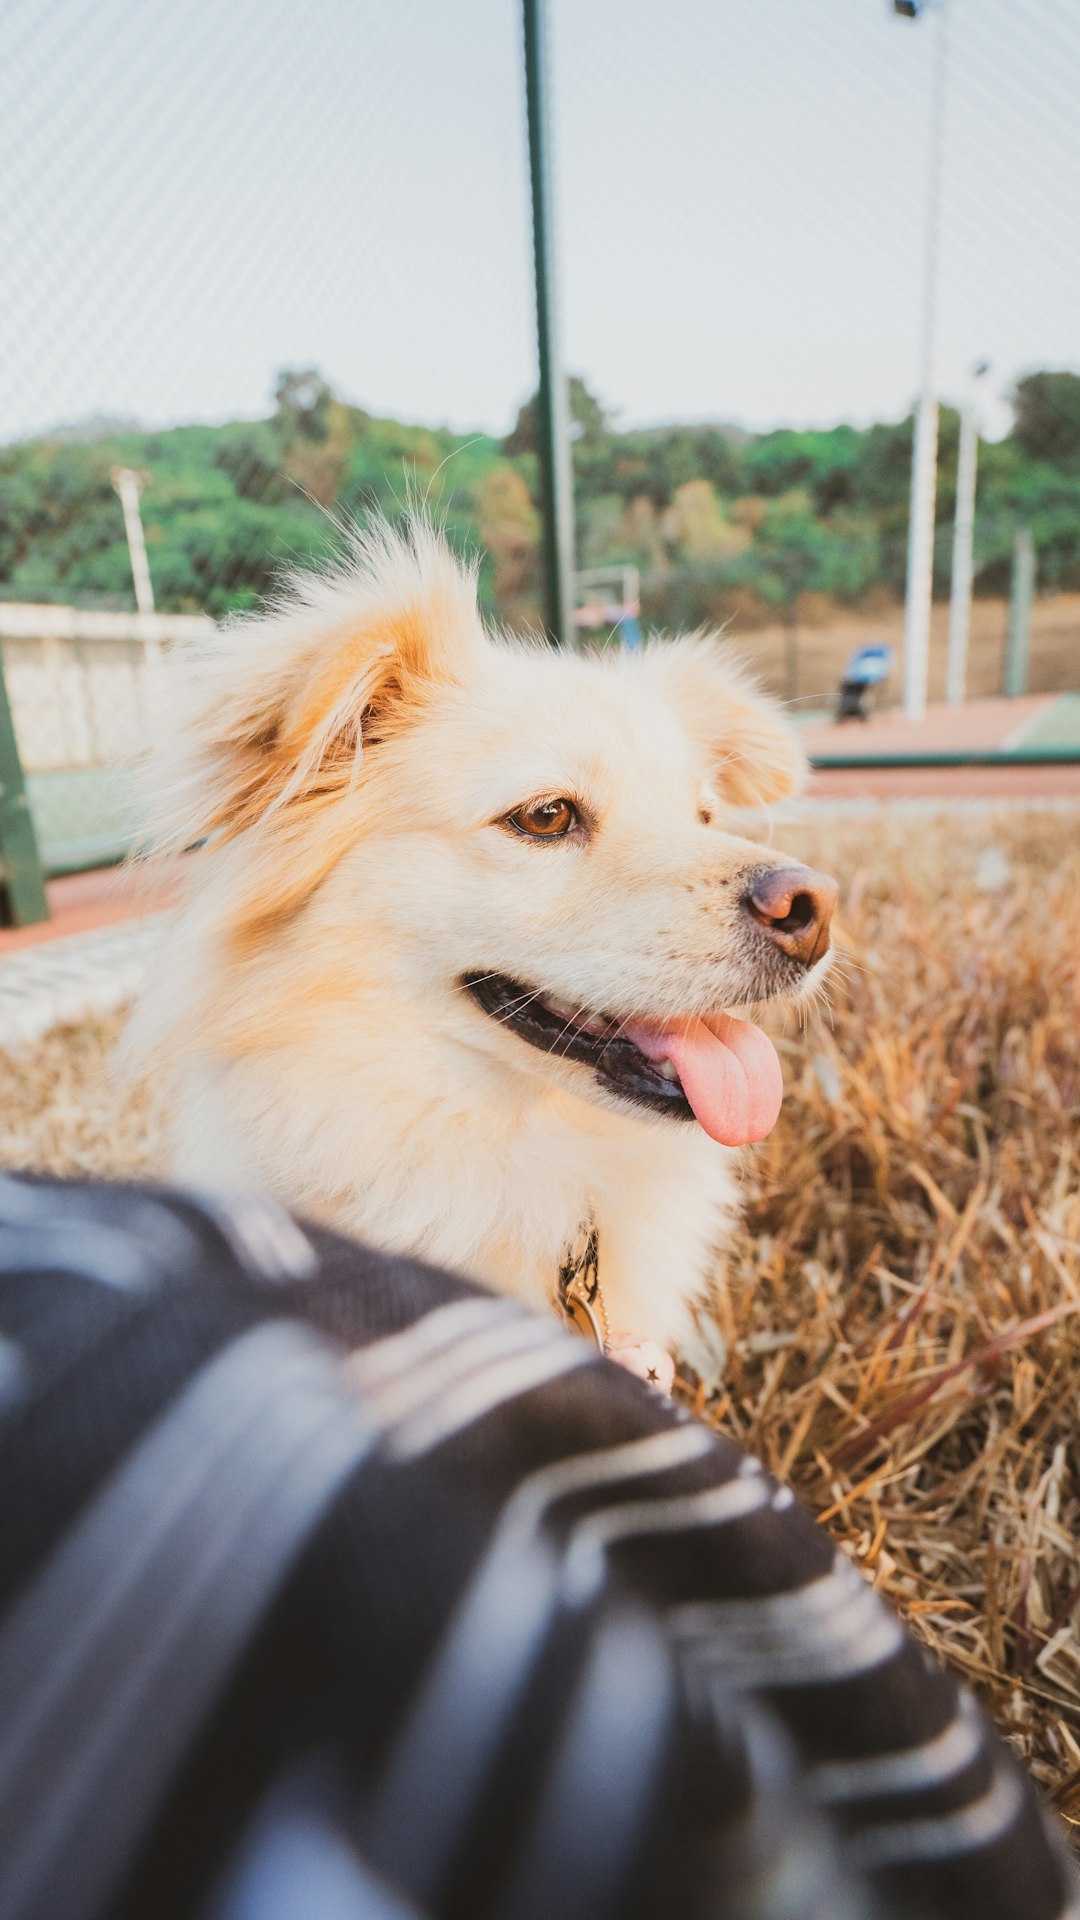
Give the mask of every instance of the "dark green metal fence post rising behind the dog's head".
[[536, 273], [536, 346], [540, 359], [536, 438], [544, 522], [544, 618], [561, 647], [577, 645], [573, 622], [575, 492], [567, 378], [559, 353], [555, 300], [555, 232], [552, 194], [552, 123], [548, 4], [523, 0], [525, 102], [528, 111], [528, 180], [532, 188], [532, 259]]

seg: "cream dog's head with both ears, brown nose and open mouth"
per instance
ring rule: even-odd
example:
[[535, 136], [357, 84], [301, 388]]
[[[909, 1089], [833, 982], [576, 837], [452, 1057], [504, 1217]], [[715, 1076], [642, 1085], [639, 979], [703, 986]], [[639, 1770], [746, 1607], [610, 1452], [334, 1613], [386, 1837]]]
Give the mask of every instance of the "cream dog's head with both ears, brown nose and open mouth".
[[234, 843], [238, 960], [363, 950], [419, 1031], [507, 1073], [728, 1144], [769, 1131], [776, 1056], [732, 1008], [821, 979], [834, 889], [730, 829], [803, 756], [715, 639], [490, 637], [419, 524], [365, 536], [206, 664], [175, 837], [211, 862]]

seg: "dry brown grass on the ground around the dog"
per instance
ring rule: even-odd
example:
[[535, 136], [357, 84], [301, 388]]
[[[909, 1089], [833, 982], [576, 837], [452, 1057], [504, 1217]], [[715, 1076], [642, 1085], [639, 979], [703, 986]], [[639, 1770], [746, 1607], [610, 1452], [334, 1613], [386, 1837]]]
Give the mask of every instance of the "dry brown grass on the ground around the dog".
[[[1080, 814], [817, 818], [832, 1014], [726, 1261], [701, 1407], [790, 1478], [1080, 1822]], [[992, 843], [997, 891], [978, 885]], [[0, 1162], [154, 1171], [115, 1023], [0, 1062]]]

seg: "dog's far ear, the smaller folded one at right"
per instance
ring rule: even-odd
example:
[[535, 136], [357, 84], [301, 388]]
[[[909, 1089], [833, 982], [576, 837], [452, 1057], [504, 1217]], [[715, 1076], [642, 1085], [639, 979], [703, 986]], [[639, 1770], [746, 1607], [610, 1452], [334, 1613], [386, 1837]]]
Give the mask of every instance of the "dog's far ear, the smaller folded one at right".
[[769, 806], [799, 791], [809, 768], [794, 726], [713, 636], [655, 641], [650, 655], [721, 799]]

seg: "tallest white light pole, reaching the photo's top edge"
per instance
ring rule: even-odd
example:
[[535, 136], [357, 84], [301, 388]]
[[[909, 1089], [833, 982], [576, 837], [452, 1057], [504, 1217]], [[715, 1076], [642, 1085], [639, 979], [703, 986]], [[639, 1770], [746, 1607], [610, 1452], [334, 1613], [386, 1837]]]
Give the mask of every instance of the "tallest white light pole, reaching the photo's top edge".
[[[930, 0], [894, 0], [897, 13], [919, 19]], [[938, 332], [938, 240], [942, 223], [942, 159], [945, 142], [945, 0], [936, 0], [934, 79], [930, 96], [930, 165], [922, 240], [922, 338], [919, 403], [911, 447], [911, 516], [907, 528], [907, 599], [903, 612], [903, 712], [922, 720], [930, 674], [930, 609], [934, 597], [934, 503], [938, 493], [938, 399], [934, 351]]]

